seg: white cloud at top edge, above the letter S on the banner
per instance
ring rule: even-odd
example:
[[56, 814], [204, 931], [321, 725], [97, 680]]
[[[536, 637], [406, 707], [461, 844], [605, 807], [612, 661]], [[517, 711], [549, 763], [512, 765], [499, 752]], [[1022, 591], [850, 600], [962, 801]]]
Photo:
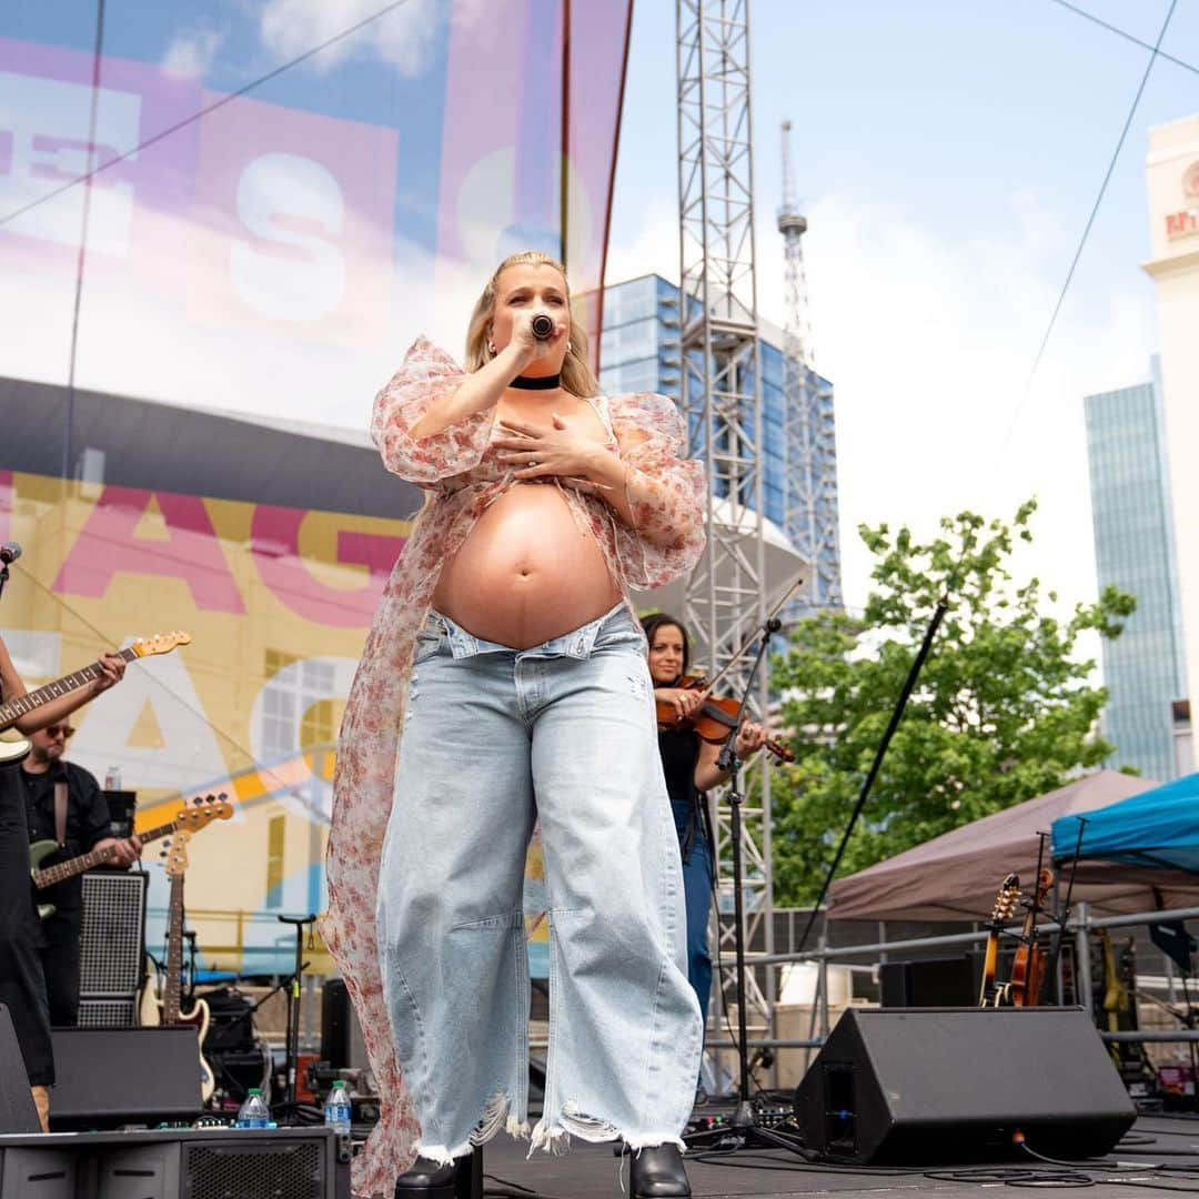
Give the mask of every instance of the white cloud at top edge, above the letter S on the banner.
[[[259, 35], [272, 55], [295, 58], [364, 20], [380, 7], [379, 0], [266, 0], [259, 18]], [[459, 0], [453, 6], [452, 19], [472, 24], [484, 11], [483, 0]], [[366, 54], [390, 64], [408, 78], [417, 78], [428, 66], [445, 12], [445, 5], [438, 0], [408, 0], [353, 36], [321, 50], [309, 65], [324, 73], [355, 54]]]

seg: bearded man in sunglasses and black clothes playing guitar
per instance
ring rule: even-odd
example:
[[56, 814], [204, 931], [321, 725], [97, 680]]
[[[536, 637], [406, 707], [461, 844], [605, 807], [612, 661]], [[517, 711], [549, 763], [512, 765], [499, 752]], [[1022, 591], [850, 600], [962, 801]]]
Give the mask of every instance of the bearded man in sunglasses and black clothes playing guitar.
[[[110, 846], [109, 864], [127, 869], [138, 860], [141, 842], [110, 835], [108, 803], [96, 776], [66, 760], [66, 745], [73, 733], [71, 722], [61, 719], [29, 737], [29, 757], [20, 764], [29, 839], [55, 840], [61, 846], [46, 866]], [[42, 921], [41, 946], [50, 1024], [78, 1024], [83, 876], [64, 879], [37, 898], [38, 903], [54, 905], [53, 915]]]

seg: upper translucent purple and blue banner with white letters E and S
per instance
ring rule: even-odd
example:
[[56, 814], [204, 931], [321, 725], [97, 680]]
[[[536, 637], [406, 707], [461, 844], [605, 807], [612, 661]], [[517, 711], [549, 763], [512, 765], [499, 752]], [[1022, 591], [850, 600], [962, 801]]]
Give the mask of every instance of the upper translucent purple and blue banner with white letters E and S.
[[506, 254], [598, 288], [631, 0], [153, 7], [0, 11], [0, 376], [361, 428]]

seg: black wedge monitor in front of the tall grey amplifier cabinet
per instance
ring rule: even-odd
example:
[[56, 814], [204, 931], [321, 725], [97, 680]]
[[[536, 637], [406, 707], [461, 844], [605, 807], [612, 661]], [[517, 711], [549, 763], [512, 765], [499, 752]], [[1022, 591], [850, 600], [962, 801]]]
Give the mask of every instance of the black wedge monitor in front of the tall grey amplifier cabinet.
[[50, 1127], [115, 1128], [200, 1114], [200, 1050], [189, 1024], [54, 1029]]

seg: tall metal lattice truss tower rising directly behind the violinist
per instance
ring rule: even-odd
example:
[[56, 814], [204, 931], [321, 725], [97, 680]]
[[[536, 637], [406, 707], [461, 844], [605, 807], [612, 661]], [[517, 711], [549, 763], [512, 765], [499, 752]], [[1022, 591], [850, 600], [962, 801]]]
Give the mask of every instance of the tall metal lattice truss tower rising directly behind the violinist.
[[[680, 400], [689, 456], [709, 478], [707, 548], [687, 583], [683, 620], [697, 661], [725, 667], [766, 617], [763, 540], [761, 348], [754, 273], [753, 137], [749, 86], [749, 0], [676, 0], [680, 215]], [[716, 502], [722, 519], [713, 519]], [[722, 689], [740, 694], [747, 655]], [[767, 707], [765, 671], [751, 715]], [[747, 944], [761, 933], [773, 952], [770, 766], [758, 754], [742, 772], [743, 903]], [[717, 803], [713, 857], [721, 908], [731, 910], [730, 819]], [[733, 929], [721, 929], [719, 951]], [[763, 927], [764, 926], [764, 927]], [[760, 944], [760, 942], [759, 942]], [[748, 980], [747, 1000], [767, 1025], [766, 994]]]

